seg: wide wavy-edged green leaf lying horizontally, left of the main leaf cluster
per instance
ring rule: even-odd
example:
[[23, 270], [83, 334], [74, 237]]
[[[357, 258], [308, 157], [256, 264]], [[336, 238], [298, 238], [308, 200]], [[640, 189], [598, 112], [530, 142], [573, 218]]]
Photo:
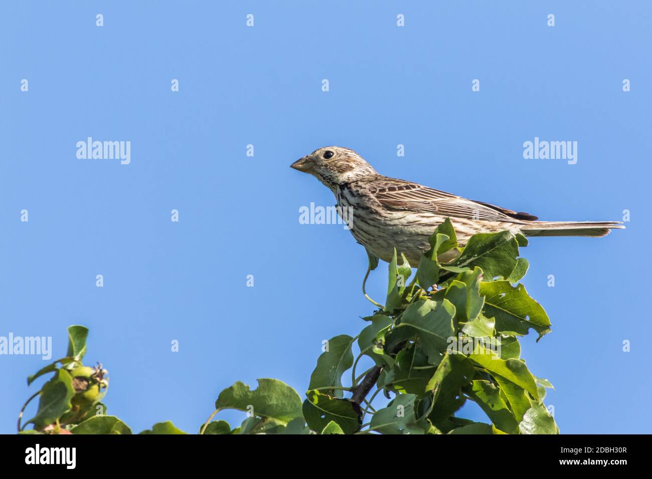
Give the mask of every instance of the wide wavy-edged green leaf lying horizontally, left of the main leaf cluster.
[[237, 409], [251, 411], [262, 418], [272, 418], [288, 423], [301, 416], [301, 398], [293, 388], [278, 379], [258, 379], [258, 388], [238, 381], [220, 392], [215, 409]]

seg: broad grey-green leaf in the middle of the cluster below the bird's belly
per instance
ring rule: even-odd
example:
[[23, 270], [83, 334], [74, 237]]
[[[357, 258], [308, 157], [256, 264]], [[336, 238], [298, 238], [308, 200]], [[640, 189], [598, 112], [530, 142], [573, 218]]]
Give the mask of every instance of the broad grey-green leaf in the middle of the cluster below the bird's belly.
[[[439, 364], [441, 354], [446, 351], [448, 338], [454, 336], [453, 317], [455, 308], [451, 302], [419, 300], [410, 304], [401, 317], [401, 322], [385, 336], [386, 347], [409, 338], [417, 338], [428, 355], [430, 364]], [[390, 336], [393, 339], [390, 341]]]

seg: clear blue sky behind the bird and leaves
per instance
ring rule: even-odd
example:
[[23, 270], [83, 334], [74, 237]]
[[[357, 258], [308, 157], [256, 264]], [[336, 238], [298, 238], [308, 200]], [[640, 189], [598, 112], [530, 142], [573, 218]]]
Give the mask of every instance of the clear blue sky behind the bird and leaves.
[[[0, 336], [52, 336], [63, 356], [66, 327], [89, 327], [108, 413], [134, 431], [195, 432], [237, 380], [303, 396], [321, 341], [355, 336], [372, 312], [363, 248], [342, 225], [299, 224], [331, 192], [288, 167], [340, 145], [386, 175], [544, 220], [630, 210], [604, 239], [531, 240], [524, 283], [553, 329], [522, 343], [556, 386], [546, 403], [563, 433], [649, 432], [652, 6], [404, 3], [3, 2]], [[89, 136], [131, 141], [130, 164], [78, 159]], [[577, 164], [525, 160], [535, 137], [578, 141]], [[372, 296], [386, 276], [383, 263]], [[0, 356], [0, 432], [44, 364]]]

